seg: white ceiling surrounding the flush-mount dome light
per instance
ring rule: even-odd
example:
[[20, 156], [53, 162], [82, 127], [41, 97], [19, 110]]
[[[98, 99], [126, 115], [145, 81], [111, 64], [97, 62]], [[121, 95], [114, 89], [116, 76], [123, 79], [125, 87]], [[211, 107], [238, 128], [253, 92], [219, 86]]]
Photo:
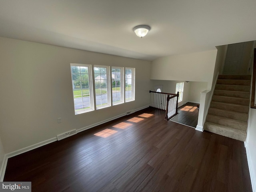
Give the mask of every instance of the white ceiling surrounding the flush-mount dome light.
[[154, 60], [256, 40], [256, 0], [0, 0], [0, 36]]

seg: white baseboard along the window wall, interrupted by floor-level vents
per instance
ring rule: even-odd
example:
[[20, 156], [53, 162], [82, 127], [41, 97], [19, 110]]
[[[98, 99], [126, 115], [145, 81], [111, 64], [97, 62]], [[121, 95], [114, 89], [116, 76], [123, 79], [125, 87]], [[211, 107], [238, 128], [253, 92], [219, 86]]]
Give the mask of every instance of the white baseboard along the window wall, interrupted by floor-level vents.
[[[149, 105], [143, 106], [143, 107], [138, 108], [138, 109], [136, 109], [134, 111], [139, 111], [139, 110], [142, 110], [142, 109], [145, 109], [145, 108], [148, 108], [148, 107], [149, 107]], [[86, 126], [86, 127], [83, 127], [83, 128], [80, 128], [80, 129], [77, 130], [77, 132], [82, 132], [84, 130], [93, 128], [95, 126], [98, 126], [100, 124], [103, 124], [103, 123], [106, 123], [106, 122], [109, 122], [109, 121], [112, 121], [112, 120], [115, 120], [115, 119], [120, 118], [122, 116], [126, 116], [126, 113], [120, 114], [118, 116], [106, 119], [104, 121], [101, 121], [101, 122], [98, 122], [98, 123], [95, 123], [95, 124], [92, 124], [92, 125], [89, 125], [89, 126]], [[13, 152], [5, 154], [4, 155], [4, 160], [2, 162], [2, 166], [0, 167], [0, 182], [2, 182], [4, 180], [4, 174], [5, 174], [5, 171], [6, 171], [6, 166], [7, 166], [8, 158], [14, 157], [16, 155], [19, 155], [19, 154], [22, 154], [22, 153], [25, 153], [25, 152], [28, 152], [30, 150], [36, 149], [38, 147], [44, 146], [46, 144], [49, 144], [49, 143], [52, 143], [52, 142], [55, 142], [55, 141], [58, 141], [57, 136], [54, 137], [54, 138], [51, 138], [51, 139], [48, 139], [48, 140], [45, 140], [45, 141], [33, 144], [31, 146], [28, 146], [28, 147], [25, 147], [25, 148], [22, 148], [22, 149], [19, 149], [19, 150], [16, 150], [16, 151], [13, 151]]]

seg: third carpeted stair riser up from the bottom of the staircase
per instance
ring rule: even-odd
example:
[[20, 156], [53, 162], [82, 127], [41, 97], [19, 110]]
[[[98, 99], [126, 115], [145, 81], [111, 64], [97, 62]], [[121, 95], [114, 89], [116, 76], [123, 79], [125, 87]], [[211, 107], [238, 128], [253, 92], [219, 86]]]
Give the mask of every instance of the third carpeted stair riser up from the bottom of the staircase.
[[225, 117], [225, 118], [230, 118], [230, 119], [234, 119], [234, 120], [239, 120], [239, 121], [244, 121], [244, 122], [247, 122], [247, 120], [248, 120], [247, 113], [236, 114], [232, 111], [221, 111], [216, 108], [209, 108], [208, 114]]

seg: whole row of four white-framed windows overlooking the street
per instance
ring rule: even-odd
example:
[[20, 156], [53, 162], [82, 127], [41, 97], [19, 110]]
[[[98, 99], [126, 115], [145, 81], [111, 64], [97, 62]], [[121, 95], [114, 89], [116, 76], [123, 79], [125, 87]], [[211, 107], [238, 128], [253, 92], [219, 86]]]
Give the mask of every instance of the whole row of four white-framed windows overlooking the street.
[[135, 68], [71, 63], [70, 69], [75, 114], [135, 100]]

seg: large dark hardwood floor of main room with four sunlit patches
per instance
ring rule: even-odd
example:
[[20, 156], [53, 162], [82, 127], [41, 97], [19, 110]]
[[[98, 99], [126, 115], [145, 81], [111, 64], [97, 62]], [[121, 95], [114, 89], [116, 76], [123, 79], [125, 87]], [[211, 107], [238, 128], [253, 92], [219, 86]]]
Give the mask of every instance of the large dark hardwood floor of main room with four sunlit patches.
[[244, 143], [147, 108], [8, 160], [32, 192], [252, 192]]

